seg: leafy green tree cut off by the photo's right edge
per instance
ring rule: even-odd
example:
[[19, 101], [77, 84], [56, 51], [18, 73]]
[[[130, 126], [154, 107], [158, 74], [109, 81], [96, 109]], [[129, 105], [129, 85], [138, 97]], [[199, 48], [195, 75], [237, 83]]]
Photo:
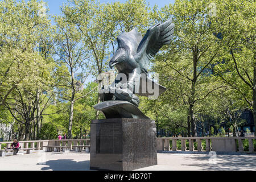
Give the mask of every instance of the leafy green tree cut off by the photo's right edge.
[[218, 32], [225, 44], [216, 72], [237, 97], [244, 99], [256, 125], [256, 5], [254, 1], [219, 1], [218, 9]]

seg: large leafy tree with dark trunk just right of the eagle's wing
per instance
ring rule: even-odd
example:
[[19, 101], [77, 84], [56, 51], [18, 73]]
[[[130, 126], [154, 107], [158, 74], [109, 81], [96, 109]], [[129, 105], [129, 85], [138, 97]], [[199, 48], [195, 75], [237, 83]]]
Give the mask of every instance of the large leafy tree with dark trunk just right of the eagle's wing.
[[187, 107], [187, 132], [190, 136], [192, 131], [193, 137], [197, 136], [197, 104], [222, 88], [212, 76], [222, 42], [214, 35], [217, 25], [212, 22], [216, 18], [209, 13], [209, 4], [177, 0], [158, 13], [158, 18], [174, 15], [175, 31], [170, 46], [156, 56], [154, 71], [162, 75], [160, 81], [167, 86], [165, 96]]

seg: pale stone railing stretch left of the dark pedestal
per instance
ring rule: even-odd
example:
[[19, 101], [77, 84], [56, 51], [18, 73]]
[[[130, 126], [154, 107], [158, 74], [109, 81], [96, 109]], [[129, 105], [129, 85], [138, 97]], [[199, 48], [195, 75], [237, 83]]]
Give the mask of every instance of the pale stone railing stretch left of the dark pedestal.
[[[63, 140], [29, 140], [29, 141], [19, 141], [19, 145], [21, 148], [35, 148], [35, 150], [44, 150], [43, 146], [47, 146], [49, 142], [51, 143], [61, 143], [61, 146], [66, 146], [68, 143], [71, 143], [72, 146], [89, 144], [90, 139], [63, 139]], [[11, 146], [11, 142], [0, 142], [0, 150], [2, 144], [6, 144], [6, 147], [9, 148]]]

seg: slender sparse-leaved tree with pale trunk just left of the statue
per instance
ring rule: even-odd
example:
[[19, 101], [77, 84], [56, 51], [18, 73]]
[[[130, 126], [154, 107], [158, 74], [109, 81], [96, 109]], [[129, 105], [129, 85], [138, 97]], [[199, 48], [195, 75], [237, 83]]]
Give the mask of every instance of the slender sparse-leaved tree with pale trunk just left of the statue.
[[[77, 31], [75, 24], [67, 22], [67, 18], [67, 16], [57, 16], [55, 18], [57, 27], [55, 52], [59, 57], [56, 60], [59, 67], [56, 71], [58, 81], [55, 86], [59, 91], [56, 92], [58, 97], [70, 102], [68, 138], [71, 139], [74, 104], [80, 98], [93, 92], [97, 87], [84, 96], [76, 97], [90, 74], [89, 57], [87, 57], [87, 49], [81, 46], [81, 33]], [[76, 73], [78, 74], [77, 77], [75, 77]]]

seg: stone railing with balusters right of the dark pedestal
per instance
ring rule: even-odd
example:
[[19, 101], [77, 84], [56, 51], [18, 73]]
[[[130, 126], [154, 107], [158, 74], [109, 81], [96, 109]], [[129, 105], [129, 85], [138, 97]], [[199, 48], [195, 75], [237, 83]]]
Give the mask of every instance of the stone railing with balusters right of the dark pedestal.
[[[181, 151], [195, 151], [194, 142], [196, 142], [197, 152], [245, 152], [243, 146], [243, 140], [245, 139], [248, 139], [249, 141], [249, 152], [254, 152], [253, 141], [256, 137], [164, 137], [157, 138], [156, 148], [158, 151], [177, 151], [177, 140], [180, 140]], [[170, 147], [170, 140], [172, 147]], [[203, 140], [205, 140], [205, 150], [203, 150], [202, 146]], [[187, 141], [188, 148], [186, 144]]]

